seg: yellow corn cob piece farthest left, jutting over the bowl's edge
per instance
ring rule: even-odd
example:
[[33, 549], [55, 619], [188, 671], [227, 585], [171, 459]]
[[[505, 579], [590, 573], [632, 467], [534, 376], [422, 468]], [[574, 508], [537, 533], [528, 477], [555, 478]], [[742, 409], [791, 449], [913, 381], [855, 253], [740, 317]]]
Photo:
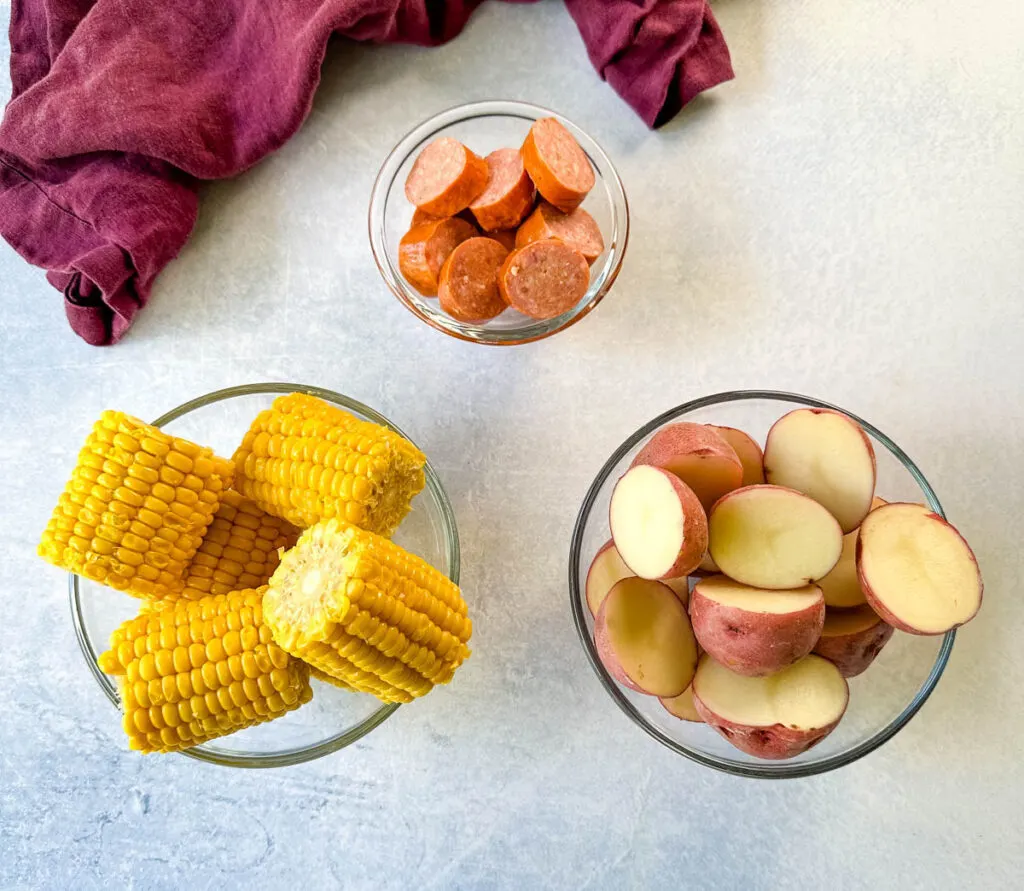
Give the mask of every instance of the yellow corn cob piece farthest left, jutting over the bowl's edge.
[[174, 595], [232, 473], [209, 449], [104, 412], [79, 453], [39, 555], [135, 597]]

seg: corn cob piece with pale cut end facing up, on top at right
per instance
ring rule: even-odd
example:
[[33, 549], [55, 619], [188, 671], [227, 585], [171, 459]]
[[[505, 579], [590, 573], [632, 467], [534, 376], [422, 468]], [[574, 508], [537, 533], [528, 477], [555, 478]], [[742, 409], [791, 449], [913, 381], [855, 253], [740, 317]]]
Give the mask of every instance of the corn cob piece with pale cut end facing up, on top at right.
[[263, 598], [273, 639], [353, 690], [408, 703], [469, 656], [455, 583], [387, 539], [338, 519], [306, 529]]

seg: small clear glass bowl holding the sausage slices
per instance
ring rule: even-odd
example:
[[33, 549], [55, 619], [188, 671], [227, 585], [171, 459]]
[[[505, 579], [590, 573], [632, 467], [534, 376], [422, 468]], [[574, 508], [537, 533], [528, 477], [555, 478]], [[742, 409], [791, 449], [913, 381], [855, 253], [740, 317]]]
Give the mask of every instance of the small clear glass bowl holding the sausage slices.
[[[590, 267], [590, 287], [580, 302], [554, 319], [538, 321], [506, 309], [481, 325], [457, 322], [410, 286], [398, 269], [398, 242], [409, 230], [414, 206], [406, 198], [406, 178], [420, 150], [439, 136], [452, 136], [483, 157], [503, 146], [518, 146], [538, 118], [557, 118], [575, 136], [594, 167], [595, 183], [583, 207], [604, 236], [604, 253]], [[579, 322], [608, 292], [626, 253], [630, 215], [623, 183], [608, 156], [590, 136], [561, 115], [526, 102], [490, 100], [458, 105], [435, 115], [404, 136], [377, 174], [370, 197], [370, 247], [388, 288], [415, 315], [453, 337], [473, 343], [510, 345], [550, 337]]]

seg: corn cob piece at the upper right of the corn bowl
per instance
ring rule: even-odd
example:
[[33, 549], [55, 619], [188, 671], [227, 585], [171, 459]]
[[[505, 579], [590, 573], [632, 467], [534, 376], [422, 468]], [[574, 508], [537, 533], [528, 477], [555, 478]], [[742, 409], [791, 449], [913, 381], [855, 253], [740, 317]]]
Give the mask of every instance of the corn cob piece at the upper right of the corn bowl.
[[338, 517], [390, 537], [425, 482], [412, 442], [305, 393], [261, 412], [233, 461], [234, 487], [300, 527]]

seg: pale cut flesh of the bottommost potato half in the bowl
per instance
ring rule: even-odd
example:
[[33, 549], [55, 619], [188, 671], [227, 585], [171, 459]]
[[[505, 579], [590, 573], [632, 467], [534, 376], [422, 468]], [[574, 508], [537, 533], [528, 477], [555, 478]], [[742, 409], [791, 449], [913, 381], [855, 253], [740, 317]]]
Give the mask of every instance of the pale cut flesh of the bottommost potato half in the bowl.
[[825, 727], [846, 709], [848, 687], [827, 660], [807, 655], [768, 677], [745, 677], [703, 656], [694, 692], [718, 717], [749, 727]]

